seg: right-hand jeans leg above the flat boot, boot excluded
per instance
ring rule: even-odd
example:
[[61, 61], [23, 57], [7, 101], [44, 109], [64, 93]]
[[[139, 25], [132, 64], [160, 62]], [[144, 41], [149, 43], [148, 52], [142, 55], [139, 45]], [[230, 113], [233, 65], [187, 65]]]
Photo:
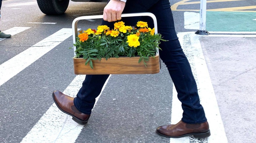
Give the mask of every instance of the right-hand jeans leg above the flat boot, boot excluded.
[[181, 49], [173, 16], [168, 0], [160, 0], [148, 10], [156, 15], [159, 33], [165, 42], [161, 42], [160, 58], [165, 63], [182, 103], [185, 123], [202, 123], [206, 121], [204, 110], [200, 104], [197, 85], [191, 71], [190, 64]]

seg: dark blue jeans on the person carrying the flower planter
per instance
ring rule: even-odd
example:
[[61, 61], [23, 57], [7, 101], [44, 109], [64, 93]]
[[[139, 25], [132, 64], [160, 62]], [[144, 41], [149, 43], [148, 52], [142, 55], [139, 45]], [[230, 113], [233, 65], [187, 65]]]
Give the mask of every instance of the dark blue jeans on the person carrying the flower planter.
[[[175, 88], [178, 92], [178, 99], [183, 109], [182, 121], [185, 123], [202, 123], [206, 121], [203, 106], [200, 104], [197, 85], [191, 71], [190, 64], [181, 49], [178, 40], [172, 11], [169, 0], [127, 0], [123, 13], [151, 12], [158, 22], [158, 32], [163, 36], [159, 50], [160, 58], [165, 63]], [[125, 25], [135, 25], [139, 17], [122, 18]], [[141, 17], [149, 27], [152, 26], [152, 19]], [[113, 27], [113, 23], [102, 21], [102, 25]], [[77, 93], [74, 104], [77, 109], [85, 114], [91, 114], [95, 104], [95, 98], [100, 94], [101, 89], [109, 75], [86, 75], [81, 89]], [[168, 86], [168, 85], [166, 85]]]

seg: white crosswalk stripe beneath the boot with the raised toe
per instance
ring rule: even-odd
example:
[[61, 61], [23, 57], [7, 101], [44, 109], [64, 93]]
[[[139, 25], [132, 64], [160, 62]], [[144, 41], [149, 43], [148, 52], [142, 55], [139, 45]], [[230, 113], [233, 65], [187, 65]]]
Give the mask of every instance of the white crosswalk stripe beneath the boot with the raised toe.
[[[84, 78], [85, 75], [77, 75], [63, 93], [75, 97], [74, 95], [76, 95], [81, 88]], [[105, 82], [101, 93], [109, 78]], [[96, 98], [96, 103], [100, 95]], [[83, 125], [79, 125], [73, 121], [71, 116], [61, 112], [56, 104], [53, 103], [31, 131], [22, 139], [21, 143], [74, 143], [83, 127]]]

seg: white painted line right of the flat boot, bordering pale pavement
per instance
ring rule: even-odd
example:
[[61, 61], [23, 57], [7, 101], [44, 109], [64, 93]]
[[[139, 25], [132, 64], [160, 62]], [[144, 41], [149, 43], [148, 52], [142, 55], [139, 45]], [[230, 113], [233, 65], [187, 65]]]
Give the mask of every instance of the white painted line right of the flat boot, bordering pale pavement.
[[[203, 56], [203, 50], [199, 41], [199, 35], [190, 34], [192, 49], [194, 49], [194, 62], [196, 75], [198, 80], [199, 95], [201, 104], [204, 107], [205, 115], [210, 125], [211, 136], [208, 137], [209, 143], [227, 143], [227, 137], [224, 130], [224, 125], [221, 119], [221, 114], [217, 99], [212, 86], [210, 74]], [[196, 55], [197, 54], [197, 55]]]

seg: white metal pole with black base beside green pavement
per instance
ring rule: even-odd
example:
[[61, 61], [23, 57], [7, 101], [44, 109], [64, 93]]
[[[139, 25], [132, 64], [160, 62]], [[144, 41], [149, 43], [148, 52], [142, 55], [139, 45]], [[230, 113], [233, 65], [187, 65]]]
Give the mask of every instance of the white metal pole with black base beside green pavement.
[[209, 35], [206, 30], [206, 0], [200, 2], [200, 29], [196, 32], [198, 35]]

